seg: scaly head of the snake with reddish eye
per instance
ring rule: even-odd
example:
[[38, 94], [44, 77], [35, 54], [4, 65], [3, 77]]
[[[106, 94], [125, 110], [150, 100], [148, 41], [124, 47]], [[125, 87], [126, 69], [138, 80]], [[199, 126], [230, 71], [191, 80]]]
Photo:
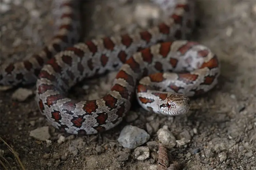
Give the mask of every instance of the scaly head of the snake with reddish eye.
[[169, 93], [168, 97], [159, 103], [159, 112], [164, 115], [185, 115], [189, 108], [189, 98], [179, 93]]

